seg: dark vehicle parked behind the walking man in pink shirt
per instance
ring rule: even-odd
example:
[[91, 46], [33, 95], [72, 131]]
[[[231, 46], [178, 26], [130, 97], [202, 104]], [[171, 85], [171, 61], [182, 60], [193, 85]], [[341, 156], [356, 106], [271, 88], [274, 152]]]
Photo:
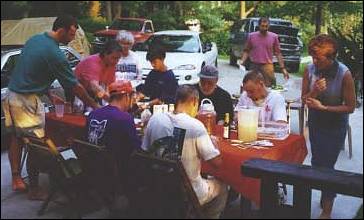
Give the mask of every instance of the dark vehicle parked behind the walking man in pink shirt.
[[[236, 65], [240, 59], [249, 33], [259, 30], [259, 18], [247, 18], [234, 22], [230, 31], [230, 64]], [[293, 27], [292, 22], [278, 18], [269, 19], [269, 31], [278, 34], [281, 53], [289, 72], [298, 72], [300, 67], [303, 43], [298, 36], [298, 28]], [[278, 64], [273, 57], [273, 63]], [[249, 68], [249, 61], [247, 63]]]

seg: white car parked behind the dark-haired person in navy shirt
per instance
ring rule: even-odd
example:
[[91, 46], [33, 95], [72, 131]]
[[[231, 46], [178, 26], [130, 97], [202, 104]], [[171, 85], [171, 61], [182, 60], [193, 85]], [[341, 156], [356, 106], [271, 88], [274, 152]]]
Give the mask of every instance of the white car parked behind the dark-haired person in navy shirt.
[[185, 30], [156, 32], [144, 43], [136, 44], [134, 50], [142, 67], [143, 79], [152, 70], [146, 54], [150, 45], [162, 44], [166, 49], [164, 60], [178, 80], [178, 84], [196, 84], [198, 73], [204, 65], [217, 66], [217, 46], [203, 41], [202, 33]]

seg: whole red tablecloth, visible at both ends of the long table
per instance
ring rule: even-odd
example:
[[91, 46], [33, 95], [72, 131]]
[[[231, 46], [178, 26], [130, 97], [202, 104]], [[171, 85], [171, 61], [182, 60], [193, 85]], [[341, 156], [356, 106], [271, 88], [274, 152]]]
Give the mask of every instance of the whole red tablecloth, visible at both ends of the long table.
[[[46, 132], [57, 145], [68, 143], [69, 139], [82, 138], [85, 132], [86, 117], [83, 115], [65, 114], [57, 118], [54, 113], [46, 114]], [[215, 134], [221, 136], [222, 127], [217, 126]], [[232, 138], [236, 139], [236, 133]], [[241, 164], [252, 158], [265, 158], [289, 163], [301, 164], [307, 155], [305, 138], [291, 134], [283, 141], [272, 141], [274, 147], [264, 149], [241, 149], [230, 144], [229, 140], [219, 138], [218, 145], [223, 157], [222, 167], [213, 171], [207, 163], [202, 164], [203, 172], [212, 174], [232, 186], [245, 198], [260, 203], [260, 180], [245, 177], [241, 174]]]

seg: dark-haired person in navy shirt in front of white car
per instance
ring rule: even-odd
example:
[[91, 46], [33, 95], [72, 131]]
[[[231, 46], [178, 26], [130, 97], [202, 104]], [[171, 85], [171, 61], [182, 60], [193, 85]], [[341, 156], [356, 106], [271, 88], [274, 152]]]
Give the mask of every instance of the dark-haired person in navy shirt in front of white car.
[[167, 70], [164, 64], [165, 58], [166, 51], [161, 46], [154, 46], [147, 53], [147, 60], [152, 64], [153, 70], [145, 79], [145, 84], [137, 90], [142, 93], [140, 97], [150, 97], [149, 105], [174, 104], [178, 84], [173, 71]]

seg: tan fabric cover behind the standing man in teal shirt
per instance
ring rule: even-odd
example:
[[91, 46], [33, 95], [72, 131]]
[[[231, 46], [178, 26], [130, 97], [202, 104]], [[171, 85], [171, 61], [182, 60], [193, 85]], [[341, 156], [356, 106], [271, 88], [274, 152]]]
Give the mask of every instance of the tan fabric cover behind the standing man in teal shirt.
[[[23, 18], [21, 20], [1, 20], [1, 46], [24, 45], [33, 35], [52, 30], [56, 17]], [[85, 32], [79, 26], [76, 37], [68, 46], [82, 56], [90, 54], [90, 44]]]

